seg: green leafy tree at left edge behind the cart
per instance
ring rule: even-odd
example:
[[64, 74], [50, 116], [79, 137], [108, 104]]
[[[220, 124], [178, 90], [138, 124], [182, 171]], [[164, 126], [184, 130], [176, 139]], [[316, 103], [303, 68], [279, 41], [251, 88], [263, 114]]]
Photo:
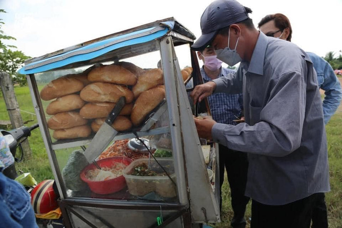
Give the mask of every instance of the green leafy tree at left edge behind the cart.
[[[6, 13], [0, 9], [0, 13]], [[4, 35], [1, 26], [4, 24], [0, 19], [0, 71], [7, 72], [11, 77], [14, 84], [19, 83], [20, 86], [26, 85], [25, 75], [17, 73], [17, 70], [22, 66], [25, 60], [31, 57], [26, 56], [14, 45], [7, 45], [4, 43], [6, 40], [16, 40], [14, 37]]]

